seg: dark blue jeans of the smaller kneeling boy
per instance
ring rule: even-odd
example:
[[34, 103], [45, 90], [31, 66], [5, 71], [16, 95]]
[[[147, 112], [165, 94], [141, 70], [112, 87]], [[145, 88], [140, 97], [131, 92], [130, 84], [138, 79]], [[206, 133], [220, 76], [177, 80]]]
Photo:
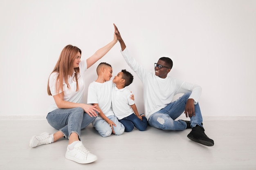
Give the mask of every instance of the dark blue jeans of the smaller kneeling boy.
[[119, 120], [125, 127], [125, 132], [130, 132], [133, 130], [134, 126], [140, 130], [146, 130], [148, 126], [148, 120], [145, 116], [142, 116], [142, 121], [134, 114], [124, 117], [123, 119]]

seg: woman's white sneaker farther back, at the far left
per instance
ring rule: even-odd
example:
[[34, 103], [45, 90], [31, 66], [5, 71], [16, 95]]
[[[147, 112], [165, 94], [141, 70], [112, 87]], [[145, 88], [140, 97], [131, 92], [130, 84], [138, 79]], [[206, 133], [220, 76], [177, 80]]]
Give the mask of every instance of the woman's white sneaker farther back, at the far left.
[[50, 143], [52, 143], [52, 137], [50, 137], [48, 132], [43, 132], [40, 135], [34, 135], [33, 137], [31, 137], [29, 141], [29, 146], [31, 148], [34, 148], [36, 146]]

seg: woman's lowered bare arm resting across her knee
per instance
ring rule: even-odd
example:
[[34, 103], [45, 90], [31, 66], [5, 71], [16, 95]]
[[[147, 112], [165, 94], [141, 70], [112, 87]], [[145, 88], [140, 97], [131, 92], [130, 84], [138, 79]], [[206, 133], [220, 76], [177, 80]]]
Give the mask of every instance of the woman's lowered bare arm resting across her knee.
[[95, 108], [96, 106], [92, 106], [90, 104], [83, 104], [83, 103], [73, 103], [73, 102], [67, 102], [64, 100], [64, 93], [59, 93], [57, 95], [53, 96], [54, 101], [57, 105], [58, 108], [76, 108], [76, 107], [80, 107], [83, 108], [83, 110], [85, 111], [85, 113], [87, 113], [90, 117], [97, 117], [97, 112], [99, 112], [99, 110], [97, 108]]

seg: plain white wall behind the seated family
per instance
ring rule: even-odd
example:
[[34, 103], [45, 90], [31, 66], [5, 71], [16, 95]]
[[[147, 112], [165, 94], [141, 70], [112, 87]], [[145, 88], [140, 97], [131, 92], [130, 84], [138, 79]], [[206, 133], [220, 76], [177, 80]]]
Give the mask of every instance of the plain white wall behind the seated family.
[[[61, 50], [72, 44], [90, 57], [112, 40], [113, 23], [145, 68], [171, 57], [170, 76], [202, 86], [203, 116], [255, 116], [255, 9], [255, 0], [1, 0], [0, 116], [46, 115], [47, 79]], [[99, 62], [113, 75], [135, 75], [128, 88], [144, 112], [142, 84], [119, 43]]]

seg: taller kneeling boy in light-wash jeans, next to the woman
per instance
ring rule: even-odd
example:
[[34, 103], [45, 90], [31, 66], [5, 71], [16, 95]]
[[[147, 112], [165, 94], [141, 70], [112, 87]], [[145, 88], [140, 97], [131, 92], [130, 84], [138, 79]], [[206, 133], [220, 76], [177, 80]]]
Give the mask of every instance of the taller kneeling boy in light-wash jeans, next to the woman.
[[92, 126], [102, 137], [108, 137], [111, 133], [121, 135], [124, 133], [122, 125], [114, 115], [111, 106], [111, 93], [114, 83], [109, 81], [112, 77], [112, 67], [110, 64], [102, 62], [97, 67], [98, 78], [88, 87], [87, 103], [97, 105], [100, 113], [93, 122]]

